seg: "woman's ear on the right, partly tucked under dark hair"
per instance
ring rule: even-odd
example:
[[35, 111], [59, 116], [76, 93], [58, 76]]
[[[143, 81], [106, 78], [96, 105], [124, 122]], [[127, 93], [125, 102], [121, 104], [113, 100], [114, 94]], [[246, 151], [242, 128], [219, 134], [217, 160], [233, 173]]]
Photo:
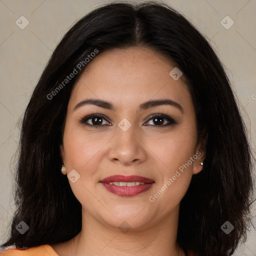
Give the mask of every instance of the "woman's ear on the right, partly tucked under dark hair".
[[198, 157], [193, 163], [193, 174], [197, 174], [202, 170], [203, 165], [201, 165], [201, 162], [203, 163], [205, 159], [207, 137], [208, 134], [206, 130], [203, 129], [201, 136], [199, 138], [199, 142], [195, 148], [195, 154]]

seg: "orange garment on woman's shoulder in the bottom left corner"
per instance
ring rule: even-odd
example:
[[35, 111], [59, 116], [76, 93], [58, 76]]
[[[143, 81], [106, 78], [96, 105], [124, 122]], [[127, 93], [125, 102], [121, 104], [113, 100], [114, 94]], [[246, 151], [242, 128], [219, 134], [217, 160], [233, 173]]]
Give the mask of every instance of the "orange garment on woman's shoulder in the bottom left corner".
[[58, 256], [49, 244], [29, 247], [26, 249], [7, 248], [0, 251], [0, 256]]

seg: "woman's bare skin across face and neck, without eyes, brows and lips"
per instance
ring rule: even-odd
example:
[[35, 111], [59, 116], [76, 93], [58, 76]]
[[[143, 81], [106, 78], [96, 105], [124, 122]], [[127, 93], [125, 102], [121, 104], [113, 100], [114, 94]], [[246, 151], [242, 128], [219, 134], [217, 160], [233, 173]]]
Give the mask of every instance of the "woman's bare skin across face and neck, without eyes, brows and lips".
[[[69, 241], [51, 244], [59, 256], [185, 255], [176, 243], [179, 203], [192, 175], [202, 169], [205, 143], [196, 143], [192, 98], [185, 78], [169, 75], [174, 67], [150, 48], [113, 49], [93, 58], [74, 85], [60, 152], [67, 173], [75, 169], [80, 175], [76, 182], [68, 181], [82, 205], [82, 229]], [[86, 98], [109, 101], [116, 109], [87, 104], [73, 110]], [[165, 98], [177, 102], [183, 112], [171, 105], [138, 109], [149, 99]], [[99, 128], [80, 122], [92, 113], [106, 117]], [[152, 119], [157, 113], [178, 123], [164, 126], [164, 119], [157, 125], [159, 120]], [[118, 126], [123, 118], [131, 124], [126, 131]], [[200, 156], [154, 202], [149, 201], [197, 151]], [[155, 183], [138, 195], [119, 196], [99, 182], [114, 174], [140, 175]], [[119, 228], [123, 221], [130, 227], [125, 233]]]

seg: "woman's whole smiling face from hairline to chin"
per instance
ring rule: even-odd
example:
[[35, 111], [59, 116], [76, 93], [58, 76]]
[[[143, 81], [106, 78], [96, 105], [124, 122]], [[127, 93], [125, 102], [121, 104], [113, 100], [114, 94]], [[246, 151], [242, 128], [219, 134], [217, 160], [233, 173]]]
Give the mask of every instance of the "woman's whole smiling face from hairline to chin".
[[[60, 149], [83, 216], [139, 229], [177, 215], [204, 154], [184, 77], [169, 74], [174, 67], [152, 49], [114, 49], [99, 52], [76, 82]], [[166, 101], [148, 103], [155, 100]], [[121, 176], [105, 179], [112, 175]]]

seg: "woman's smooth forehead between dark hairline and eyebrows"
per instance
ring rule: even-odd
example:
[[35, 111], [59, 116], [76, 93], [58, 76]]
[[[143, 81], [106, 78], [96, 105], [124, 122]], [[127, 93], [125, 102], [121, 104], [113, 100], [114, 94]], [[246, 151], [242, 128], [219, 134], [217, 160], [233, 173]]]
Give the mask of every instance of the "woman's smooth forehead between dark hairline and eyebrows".
[[74, 85], [70, 105], [89, 97], [119, 105], [168, 96], [191, 100], [184, 77], [174, 80], [169, 75], [174, 67], [169, 58], [146, 47], [99, 52]]

